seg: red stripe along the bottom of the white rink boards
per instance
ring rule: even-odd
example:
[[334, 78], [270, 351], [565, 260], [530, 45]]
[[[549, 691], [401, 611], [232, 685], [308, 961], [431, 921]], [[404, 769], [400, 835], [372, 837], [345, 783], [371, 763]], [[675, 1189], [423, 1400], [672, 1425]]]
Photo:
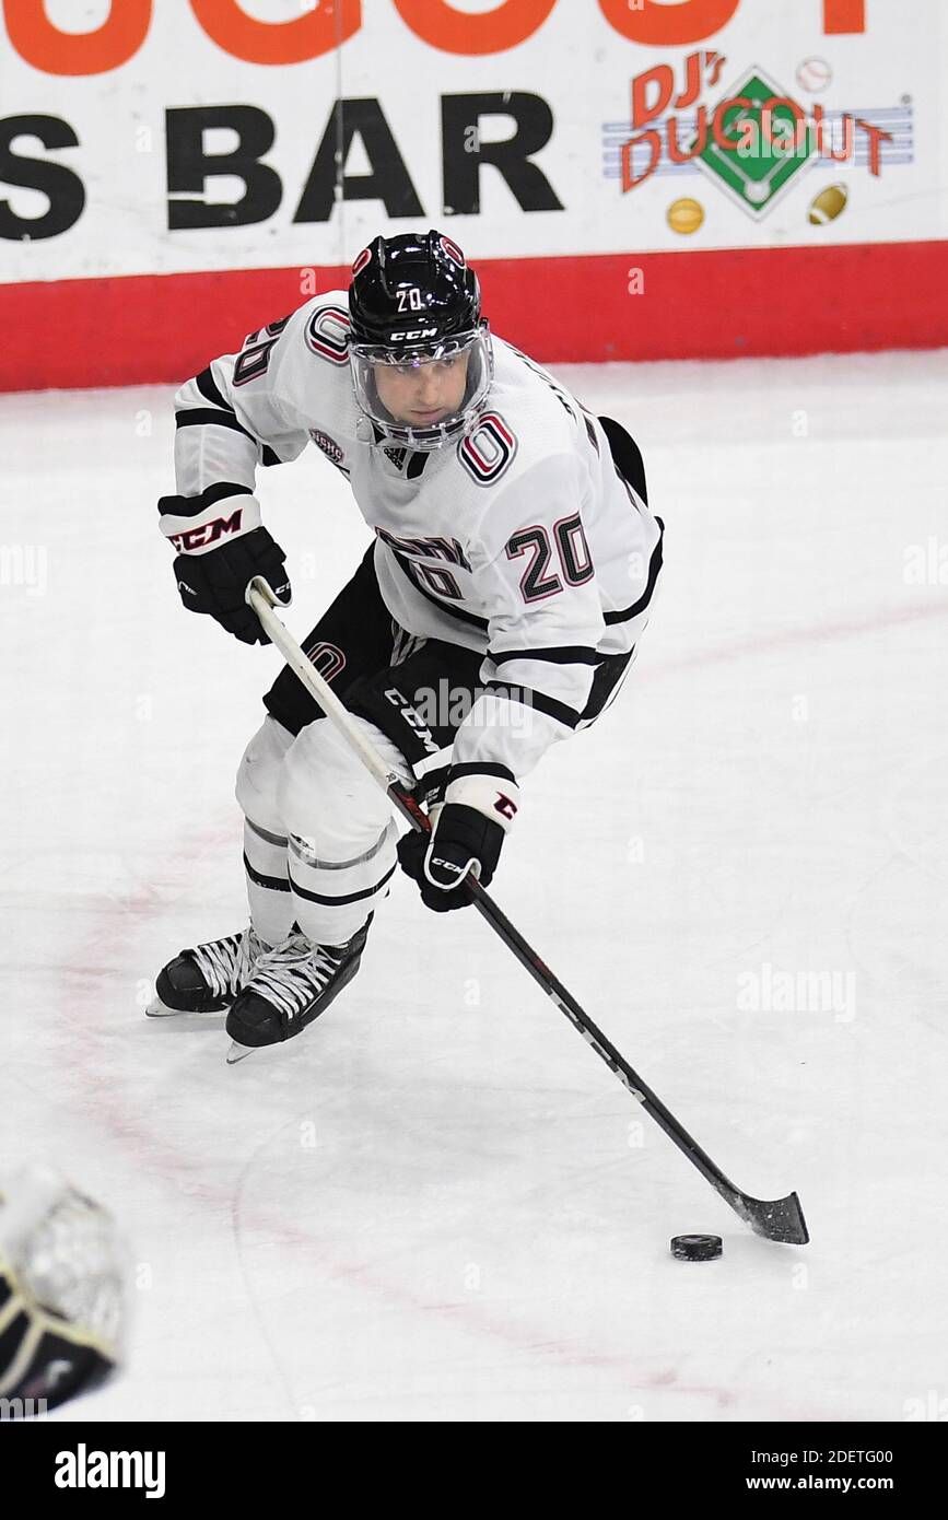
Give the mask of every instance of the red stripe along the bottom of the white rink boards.
[[[547, 362], [948, 345], [948, 242], [476, 261], [495, 333]], [[348, 266], [0, 284], [0, 389], [179, 382]], [[638, 293], [632, 293], [638, 292]]]

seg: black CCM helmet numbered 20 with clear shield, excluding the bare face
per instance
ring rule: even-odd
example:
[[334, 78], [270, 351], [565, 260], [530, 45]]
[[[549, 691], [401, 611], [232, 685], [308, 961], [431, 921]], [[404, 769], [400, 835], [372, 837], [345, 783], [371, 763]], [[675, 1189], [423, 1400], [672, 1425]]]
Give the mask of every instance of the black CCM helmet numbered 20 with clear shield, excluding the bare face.
[[[359, 406], [386, 441], [442, 448], [463, 436], [486, 406], [494, 353], [480, 315], [480, 281], [450, 237], [403, 233], [377, 237], [359, 254], [349, 284], [349, 365]], [[457, 365], [466, 385], [457, 410], [430, 427], [409, 426], [381, 403], [375, 371]]]

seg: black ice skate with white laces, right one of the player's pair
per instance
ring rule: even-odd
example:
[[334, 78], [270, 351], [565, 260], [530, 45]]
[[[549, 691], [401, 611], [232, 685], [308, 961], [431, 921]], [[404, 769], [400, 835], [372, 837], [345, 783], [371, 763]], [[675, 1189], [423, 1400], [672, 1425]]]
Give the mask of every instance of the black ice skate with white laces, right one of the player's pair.
[[260, 1046], [292, 1040], [330, 1006], [359, 970], [372, 915], [345, 945], [318, 945], [299, 930], [260, 956], [231, 1005], [228, 1066]]

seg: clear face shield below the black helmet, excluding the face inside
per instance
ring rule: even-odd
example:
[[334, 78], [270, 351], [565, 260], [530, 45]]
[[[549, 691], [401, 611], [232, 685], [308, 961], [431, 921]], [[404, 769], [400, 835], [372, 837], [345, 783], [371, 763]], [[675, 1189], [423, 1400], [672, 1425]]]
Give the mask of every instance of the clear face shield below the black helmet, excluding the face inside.
[[[469, 354], [465, 394], [457, 412], [451, 412], [433, 427], [412, 427], [400, 423], [381, 404], [375, 385], [375, 369], [381, 365], [410, 365], [419, 368], [451, 359], [454, 354]], [[424, 348], [390, 348], [380, 344], [349, 344], [349, 371], [356, 388], [359, 407], [383, 433], [386, 442], [418, 448], [422, 453], [445, 448], [463, 438], [488, 404], [488, 392], [494, 380], [494, 348], [486, 322], [468, 333], [457, 333], [436, 345]]]

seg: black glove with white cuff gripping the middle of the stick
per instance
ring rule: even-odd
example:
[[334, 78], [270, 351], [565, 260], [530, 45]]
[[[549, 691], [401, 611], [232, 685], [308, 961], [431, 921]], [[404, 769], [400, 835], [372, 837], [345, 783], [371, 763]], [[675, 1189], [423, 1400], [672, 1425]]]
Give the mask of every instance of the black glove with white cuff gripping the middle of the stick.
[[517, 816], [518, 787], [509, 771], [495, 771], [451, 780], [444, 804], [431, 807], [431, 833], [413, 830], [398, 841], [401, 869], [418, 882], [422, 903], [436, 914], [471, 903], [468, 876], [488, 886], [497, 871], [504, 834]]

